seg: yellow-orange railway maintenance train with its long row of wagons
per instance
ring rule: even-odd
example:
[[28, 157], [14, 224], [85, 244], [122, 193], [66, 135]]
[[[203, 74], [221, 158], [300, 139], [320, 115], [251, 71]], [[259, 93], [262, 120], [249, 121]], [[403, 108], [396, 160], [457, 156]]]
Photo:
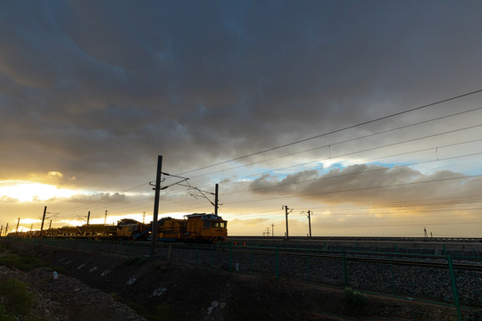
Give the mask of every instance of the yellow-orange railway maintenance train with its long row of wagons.
[[[157, 221], [155, 237], [169, 242], [215, 243], [226, 240], [227, 225], [228, 222], [220, 216], [206, 213], [186, 215], [184, 219], [161, 218]], [[85, 224], [49, 228], [42, 232], [42, 236], [145, 241], [153, 237], [152, 228], [152, 223], [143, 224], [135, 219], [123, 218], [117, 222], [117, 225]], [[38, 237], [40, 232], [16, 232], [8, 236]]]

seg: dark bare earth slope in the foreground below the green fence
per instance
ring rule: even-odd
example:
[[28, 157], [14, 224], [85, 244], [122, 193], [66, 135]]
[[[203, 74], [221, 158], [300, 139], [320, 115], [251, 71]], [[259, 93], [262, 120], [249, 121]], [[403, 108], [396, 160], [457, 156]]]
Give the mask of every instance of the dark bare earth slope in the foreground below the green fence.
[[[48, 267], [22, 272], [0, 267], [0, 276], [28, 284], [46, 320], [457, 320], [455, 309], [344, 292], [311, 284], [194, 269], [164, 261], [8, 243], [43, 259]], [[54, 280], [53, 271], [59, 272]], [[464, 310], [464, 320], [482, 320]], [[1, 319], [1, 317], [0, 317]]]

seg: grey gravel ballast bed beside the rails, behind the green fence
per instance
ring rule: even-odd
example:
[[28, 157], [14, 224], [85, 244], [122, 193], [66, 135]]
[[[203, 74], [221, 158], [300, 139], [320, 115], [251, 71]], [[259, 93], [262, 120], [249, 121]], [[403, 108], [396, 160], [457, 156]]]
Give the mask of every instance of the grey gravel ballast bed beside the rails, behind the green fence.
[[[159, 250], [167, 257], [168, 249]], [[195, 264], [203, 268], [229, 269], [233, 272], [264, 274], [276, 277], [275, 255], [250, 254], [229, 251], [196, 249], [171, 249], [171, 259]], [[379, 256], [378, 256], [379, 258]], [[405, 258], [406, 259], [406, 258]], [[417, 260], [417, 259], [413, 259]], [[437, 259], [424, 259], [437, 260]], [[440, 261], [440, 259], [438, 259]], [[446, 260], [444, 260], [446, 262]], [[474, 262], [470, 262], [474, 263]], [[480, 264], [480, 261], [478, 261]], [[317, 257], [293, 257], [279, 255], [280, 277], [302, 279], [303, 282], [345, 286], [345, 273], [341, 259]], [[461, 304], [482, 306], [482, 272], [454, 270], [458, 296]], [[452, 279], [447, 268], [400, 266], [347, 260], [348, 285], [370, 292], [382, 292], [395, 296], [417, 297], [453, 303]]]

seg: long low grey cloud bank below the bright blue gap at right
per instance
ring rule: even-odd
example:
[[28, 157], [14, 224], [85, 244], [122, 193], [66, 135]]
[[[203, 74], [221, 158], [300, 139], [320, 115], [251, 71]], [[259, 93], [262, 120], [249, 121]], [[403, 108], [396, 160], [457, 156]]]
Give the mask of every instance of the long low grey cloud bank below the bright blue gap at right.
[[[463, 178], [450, 170], [424, 175], [408, 167], [388, 168], [378, 165], [353, 165], [332, 169], [326, 174], [308, 170], [282, 179], [264, 175], [252, 182], [254, 193], [293, 196], [325, 203], [404, 202], [475, 195], [482, 184], [480, 177]], [[422, 196], [423, 195], [423, 196]]]

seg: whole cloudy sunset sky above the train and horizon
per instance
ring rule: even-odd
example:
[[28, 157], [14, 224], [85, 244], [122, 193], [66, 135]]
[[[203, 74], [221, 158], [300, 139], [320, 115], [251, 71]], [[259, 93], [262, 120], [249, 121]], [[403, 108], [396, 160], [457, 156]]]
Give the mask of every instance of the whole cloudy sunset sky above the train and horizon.
[[3, 2], [0, 225], [148, 223], [162, 155], [160, 218], [218, 184], [229, 235], [482, 237], [481, 12]]

